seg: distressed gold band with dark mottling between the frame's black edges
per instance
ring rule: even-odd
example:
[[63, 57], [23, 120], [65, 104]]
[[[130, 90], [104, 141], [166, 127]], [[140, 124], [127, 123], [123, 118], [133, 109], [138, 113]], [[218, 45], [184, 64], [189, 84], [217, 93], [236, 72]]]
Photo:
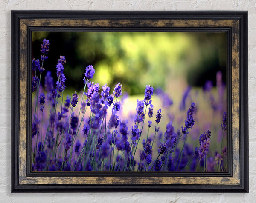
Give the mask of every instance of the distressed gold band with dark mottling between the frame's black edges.
[[[20, 19], [20, 61], [19, 61], [19, 146], [18, 146], [18, 176], [19, 185], [46, 185], [46, 184], [177, 184], [177, 185], [240, 185], [240, 152], [239, 152], [239, 20], [125, 20], [125, 19]], [[27, 28], [35, 27], [141, 27], [141, 28], [191, 28], [215, 27], [232, 28], [232, 176], [231, 177], [138, 177], [125, 175], [123, 177], [27, 177], [26, 175], [26, 148], [27, 148]], [[88, 173], [88, 175], [90, 175]], [[210, 175], [209, 175], [210, 176]]]

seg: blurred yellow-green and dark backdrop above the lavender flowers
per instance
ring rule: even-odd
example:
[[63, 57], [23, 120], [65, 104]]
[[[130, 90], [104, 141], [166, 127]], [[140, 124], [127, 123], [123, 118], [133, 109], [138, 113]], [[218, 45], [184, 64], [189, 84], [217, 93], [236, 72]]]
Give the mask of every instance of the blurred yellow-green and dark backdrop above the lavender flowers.
[[164, 90], [184, 89], [212, 80], [215, 86], [217, 71], [226, 80], [225, 33], [32, 32], [33, 58], [40, 58], [44, 38], [50, 42], [44, 68], [55, 81], [57, 59], [66, 58], [66, 93], [84, 87], [88, 65], [96, 71], [93, 81], [100, 86], [107, 83], [111, 90], [121, 82], [122, 90], [130, 95], [143, 94], [148, 84]]

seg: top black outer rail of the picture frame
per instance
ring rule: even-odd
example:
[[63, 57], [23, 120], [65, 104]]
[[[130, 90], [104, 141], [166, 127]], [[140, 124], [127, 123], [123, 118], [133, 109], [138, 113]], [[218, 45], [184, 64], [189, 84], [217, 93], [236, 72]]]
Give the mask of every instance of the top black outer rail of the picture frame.
[[[239, 18], [244, 11], [14, 11], [19, 17], [26, 18], [90, 18], [90, 19], [223, 19]], [[29, 14], [29, 16], [26, 16]], [[236, 16], [236, 17], [234, 17]]]

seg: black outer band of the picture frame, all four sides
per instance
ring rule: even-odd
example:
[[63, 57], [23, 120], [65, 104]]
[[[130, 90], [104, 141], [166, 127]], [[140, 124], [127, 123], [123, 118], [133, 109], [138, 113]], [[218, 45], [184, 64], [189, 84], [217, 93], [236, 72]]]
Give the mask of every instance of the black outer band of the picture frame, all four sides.
[[[24, 16], [24, 15], [26, 15], [26, 14], [35, 14], [37, 17], [38, 17], [38, 14], [49, 14], [49, 13], [53, 13], [54, 12], [54, 16], [57, 14], [58, 15], [58, 18], [60, 18], [60, 16], [59, 16], [59, 14], [61, 13], [61, 14], [71, 14], [72, 13], [72, 15], [76, 15], [76, 17], [78, 17], [77, 16], [77, 14], [75, 14], [74, 13], [74, 11], [57, 11], [57, 13], [56, 13], [56, 11], [12, 11], [12, 40], [13, 40], [13, 42], [15, 42], [15, 44], [12, 42], [12, 91], [13, 91], [13, 93], [15, 93], [15, 95], [16, 96], [19, 96], [19, 95], [17, 95], [18, 94], [18, 92], [16, 91], [16, 90], [18, 90], [18, 86], [19, 86], [19, 84], [17, 83], [19, 80], [19, 77], [17, 77], [17, 73], [15, 74], [15, 67], [14, 67], [14, 65], [17, 65], [17, 61], [15, 61], [15, 54], [17, 54], [18, 53], [18, 49], [17, 49], [17, 45], [16, 45], [16, 43], [17, 43], [17, 40], [18, 40], [18, 38], [17, 38], [17, 30], [15, 29], [15, 26], [16, 26], [16, 28], [19, 26], [18, 25], [18, 20], [17, 19], [19, 19], [20, 17], [26, 17], [26, 16]], [[117, 14], [120, 14], [120, 13], [124, 13], [124, 11], [75, 11], [75, 12], [78, 12], [78, 13], [81, 13], [82, 12], [82, 16], [84, 16], [84, 13], [86, 13], [86, 14], [100, 14], [101, 16], [102, 16], [102, 14], [106, 14], [106, 15], [108, 15], [108, 14], [115, 14], [115, 13], [117, 13]], [[148, 14], [148, 13], [150, 13], [151, 11], [135, 11], [135, 13], [136, 14], [140, 14], [140, 17], [142, 16], [142, 14]], [[154, 11], [155, 12], [155, 11]], [[205, 12], [205, 11], [192, 11], [192, 12], [187, 12], [187, 11], [177, 11], [177, 12], [181, 12], [181, 15], [186, 15], [186, 17], [185, 18], [187, 18], [187, 17], [189, 17], [191, 14], [200, 14], [201, 16], [199, 17], [199, 18], [204, 18], [205, 19], [205, 14], [207, 15], [207, 16], [209, 16], [211, 19], [212, 19], [212, 14], [224, 14], [225, 15], [225, 17], [228, 17], [227, 16], [227, 14], [228, 15], [232, 15], [231, 17], [233, 18], [233, 19], [236, 19], [236, 18], [240, 18], [241, 19], [241, 14], [242, 14], [242, 16], [246, 16], [245, 18], [244, 18], [244, 27], [245, 27], [245, 29], [244, 29], [244, 39], [243, 39], [243, 43], [245, 44], [245, 47], [244, 47], [244, 56], [246, 57], [245, 58], [245, 60], [244, 60], [244, 68], [247, 68], [247, 49], [245, 49], [245, 48], [247, 48], [247, 11], [207, 11], [207, 12]], [[163, 12], [161, 11], [161, 14], [162, 14]], [[171, 13], [169, 13], [169, 11], [166, 11], [166, 12], [164, 12], [164, 14], [168, 14], [168, 18], [170, 19], [170, 16], [169, 15], [172, 15], [172, 13], [175, 13], [175, 12], [173, 12], [173, 11], [171, 11]], [[134, 14], [134, 11], [125, 11], [125, 14]], [[160, 13], [159, 13], [160, 14]], [[233, 15], [240, 15], [239, 17], [234, 17]], [[176, 16], [177, 15], [179, 15], [178, 13], [177, 14], [175, 14]], [[31, 16], [31, 15], [30, 15]], [[162, 15], [161, 15], [162, 16]], [[129, 16], [129, 17], [131, 17], [131, 16]], [[143, 17], [146, 17], [146, 16], [143, 16]], [[159, 16], [156, 16], [156, 17], [158, 17], [159, 19], [161, 19]], [[64, 17], [62, 17], [62, 18], [64, 18]], [[69, 16], [69, 18], [70, 18], [70, 16]], [[91, 18], [91, 17], [90, 17]], [[108, 15], [108, 18], [110, 18], [110, 16]], [[113, 17], [111, 17], [111, 18], [113, 18]], [[125, 17], [122, 17], [122, 18], [125, 18]], [[180, 19], [180, 16], [178, 17], [179, 19]], [[221, 18], [221, 19], [224, 19], [224, 17], [219, 17], [219, 18]], [[103, 19], [103, 18], [102, 18]], [[175, 19], [175, 18], [174, 18]], [[16, 36], [13, 36], [14, 35], [14, 31], [15, 31], [15, 35]], [[16, 38], [15, 38], [16, 37]], [[240, 38], [240, 40], [241, 40], [241, 38]], [[19, 43], [18, 43], [19, 44]], [[16, 45], [16, 46], [15, 46]], [[15, 48], [17, 49], [17, 50], [15, 50]], [[240, 47], [241, 48], [241, 47]], [[241, 51], [241, 50], [240, 50]], [[18, 54], [17, 54], [17, 56], [18, 56]], [[19, 57], [19, 56], [18, 56]], [[18, 67], [18, 66], [17, 66]], [[244, 79], [246, 80], [246, 81], [244, 81], [244, 79], [243, 79], [243, 83], [244, 83], [244, 86], [247, 86], [247, 76], [248, 75], [248, 71], [247, 71], [247, 69], [246, 70], [244, 70], [243, 71], [243, 76], [244, 76]], [[242, 78], [241, 78], [242, 79]], [[240, 82], [240, 81], [239, 81]], [[241, 84], [240, 84], [241, 85]], [[247, 90], [247, 89], [246, 89]], [[239, 91], [240, 92], [240, 91]], [[17, 106], [17, 103], [16, 103], [16, 106], [15, 106], [15, 98], [14, 98], [14, 94], [12, 93], [12, 169], [13, 169], [13, 166], [15, 166], [16, 167], [16, 169], [17, 169], [17, 157], [18, 157], [18, 154], [16, 155], [15, 154], [15, 149], [17, 150], [17, 148], [16, 147], [14, 147], [14, 144], [16, 144], [17, 143], [17, 140], [18, 140], [18, 137], [16, 137], [16, 139], [15, 139], [15, 131], [14, 130], [17, 130], [18, 129], [18, 122], [17, 123], [15, 123], [15, 120], [13, 119], [13, 116], [15, 116], [15, 112], [17, 112], [17, 109], [18, 109], [18, 106]], [[244, 183], [245, 183], [245, 186], [243, 187], [243, 186], [218, 186], [218, 188], [222, 188], [222, 189], [216, 189], [216, 188], [213, 188], [212, 189], [212, 187], [216, 187], [216, 186], [209, 186], [209, 188], [207, 188], [207, 186], [204, 186], [204, 188], [202, 188], [203, 186], [193, 186], [193, 188], [198, 188], [198, 189], [203, 189], [203, 191], [202, 192], [223, 192], [223, 191], [227, 191], [227, 192], [248, 192], [248, 187], [249, 187], [249, 184], [248, 184], [248, 179], [249, 179], [249, 175], [248, 175], [248, 172], [249, 172], [249, 168], [248, 168], [248, 147], [246, 147], [246, 146], [248, 146], [248, 90], [247, 91], [245, 91], [245, 92], [243, 92], [244, 93], [244, 99], [245, 99], [245, 102], [244, 102], [244, 110], [243, 110], [243, 116], [244, 116], [244, 125], [245, 125], [245, 128], [244, 128], [244, 136], [246, 136], [246, 137], [244, 137], [244, 139], [242, 139], [242, 142], [244, 142], [244, 146], [242, 146], [242, 147], [245, 147], [245, 148], [247, 148], [247, 150], [244, 152], [244, 157], [242, 157], [242, 159], [243, 159], [243, 161], [244, 161], [244, 177], [245, 177], [245, 180], [244, 180]], [[239, 94], [239, 96], [241, 96], [241, 92], [240, 92], [240, 94]], [[16, 97], [16, 98], [19, 98], [19, 97]], [[241, 97], [239, 97], [240, 99], [241, 99]], [[16, 111], [15, 110], [13, 110], [14, 109], [14, 107], [16, 107]], [[246, 117], [247, 116], [247, 117]], [[16, 119], [17, 119], [17, 117], [15, 117]], [[13, 129], [13, 127], [15, 126], [15, 129]], [[17, 146], [17, 145], [16, 145]], [[18, 152], [18, 151], [17, 151]], [[15, 155], [15, 159], [13, 159], [13, 154]], [[241, 155], [241, 154], [240, 154]], [[242, 160], [241, 160], [242, 161]], [[17, 171], [17, 170], [16, 170]], [[13, 178], [14, 177], [14, 178]], [[45, 189], [44, 187], [45, 186], [31, 186], [31, 185], [26, 185], [26, 186], [20, 186], [20, 185], [18, 185], [18, 183], [17, 183], [17, 180], [18, 180], [18, 174], [15, 174], [15, 171], [13, 171], [12, 170], [12, 192], [28, 192], [28, 189], [32, 189], [33, 191], [36, 191], [37, 189], [39, 189], [40, 190], [40, 192], [53, 192], [53, 191], [48, 191], [48, 189]], [[61, 192], [61, 191], [65, 191], [65, 192], [67, 192], [65, 189], [64, 190], [62, 190], [61, 188], [62, 188], [62, 186], [64, 186], [64, 185], [62, 185], [62, 186], [57, 186], [57, 187], [55, 187], [55, 186], [51, 186], [51, 185], [46, 185], [48, 188], [50, 188], [49, 190], [51, 190], [51, 189], [55, 189], [55, 191], [58, 191], [58, 192]], [[172, 185], [173, 186], [173, 185]], [[64, 186], [66, 189], [67, 189], [67, 185], [66, 186]], [[84, 186], [83, 186], [84, 187]], [[90, 188], [92, 187], [92, 186], [89, 186]], [[100, 187], [100, 188], [99, 188]], [[109, 187], [111, 187], [111, 188], [109, 188]], [[113, 187], [113, 188], [112, 188]], [[134, 185], [132, 185], [132, 187], [134, 188]], [[163, 187], [163, 186], [159, 186], [159, 185], [150, 185], [150, 187], [161, 187], [161, 191], [163, 191], [163, 189], [165, 188], [165, 187]], [[176, 188], [177, 188], [177, 186], [175, 186]], [[186, 186], [181, 186], [181, 189], [178, 189], [177, 191], [182, 191], [182, 192], [184, 192], [184, 191], [186, 191], [186, 188], [185, 188]], [[191, 186], [189, 186], [189, 187], [191, 187]], [[78, 191], [80, 191], [80, 189], [81, 189], [81, 185], [79, 185], [78, 186], [78, 188], [77, 187], [75, 187], [74, 188], [74, 186], [72, 186], [72, 188], [69, 188], [69, 191], [70, 190], [75, 190], [76, 192], [78, 192]], [[95, 187], [95, 189], [96, 189], [96, 192], [99, 192], [99, 191], [101, 191], [101, 190], [104, 190], [105, 192], [108, 192], [108, 191], [112, 191], [113, 189], [128, 189], [129, 188], [129, 186], [127, 186], [127, 185], [125, 185], [125, 186], [123, 186], [123, 185], [121, 185], [121, 186], [116, 186], [116, 188], [115, 188], [115, 186], [113, 186], [113, 185], [110, 185], [110, 186], [108, 186], [108, 188], [105, 188], [105, 186], [104, 186], [104, 188], [102, 189], [102, 186], [100, 186], [100, 185], [97, 185], [96, 187]], [[141, 189], [141, 188], [140, 188]], [[195, 189], [195, 191], [193, 191], [194, 189], [191, 189], [191, 188], [189, 188], [188, 189], [188, 192], [198, 192], [198, 189]], [[234, 190], [235, 189], [235, 190]], [[43, 191], [42, 191], [43, 190]], [[92, 189], [93, 190], [93, 189]], [[143, 190], [143, 189], [142, 189]], [[148, 189], [146, 189], [147, 191], [148, 191]], [[165, 190], [165, 189], [164, 189]], [[175, 192], [176, 190], [175, 189], [170, 189], [170, 188], [168, 188], [168, 189], [166, 189], [167, 191], [166, 192]], [[172, 190], [172, 191], [170, 191], [170, 190]], [[83, 191], [83, 192], [85, 192], [83, 189], [81, 189], [81, 191]], [[87, 191], [91, 191], [89, 188], [87, 188]], [[104, 191], [101, 191], [101, 192], [104, 192]], [[130, 191], [132, 191], [132, 189], [130, 188], [129, 189], [129, 191], [128, 192], [130, 192]], [[137, 191], [137, 190], [136, 190]], [[145, 192], [147, 192], [147, 191], [145, 191]], [[154, 190], [155, 191], [155, 190]], [[154, 191], [150, 191], [150, 192], [154, 192]], [[39, 191], [38, 191], [39, 192]], [[121, 191], [120, 191], [121, 192]], [[124, 192], [124, 191], [122, 191], [122, 192]], [[164, 192], [164, 191], [163, 191]]]

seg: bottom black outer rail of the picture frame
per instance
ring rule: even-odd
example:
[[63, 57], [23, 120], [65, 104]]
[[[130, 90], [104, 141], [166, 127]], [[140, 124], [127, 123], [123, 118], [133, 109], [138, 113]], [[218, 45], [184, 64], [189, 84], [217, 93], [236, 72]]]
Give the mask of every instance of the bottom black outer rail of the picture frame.
[[[218, 187], [218, 188], [216, 188]], [[244, 193], [242, 186], [223, 186], [223, 185], [26, 185], [18, 186], [12, 193], [23, 192], [229, 192], [229, 193]]]

